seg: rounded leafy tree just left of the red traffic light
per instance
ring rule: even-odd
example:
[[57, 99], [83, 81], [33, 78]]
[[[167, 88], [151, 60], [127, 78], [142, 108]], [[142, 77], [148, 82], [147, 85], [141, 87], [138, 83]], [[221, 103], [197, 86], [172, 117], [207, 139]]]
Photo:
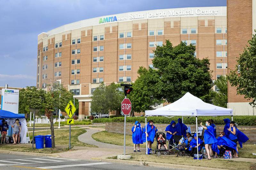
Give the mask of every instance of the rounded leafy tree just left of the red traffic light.
[[92, 94], [92, 112], [107, 114], [113, 110], [120, 110], [124, 94], [118, 90], [119, 87], [120, 84], [111, 83], [106, 86], [102, 82]]

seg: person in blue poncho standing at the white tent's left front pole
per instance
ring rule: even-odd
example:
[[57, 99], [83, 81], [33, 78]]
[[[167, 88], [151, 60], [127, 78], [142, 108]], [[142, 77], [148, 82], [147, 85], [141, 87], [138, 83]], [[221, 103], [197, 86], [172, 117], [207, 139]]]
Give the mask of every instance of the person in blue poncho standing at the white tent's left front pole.
[[147, 140], [148, 140], [148, 148], [151, 148], [154, 138], [156, 135], [157, 127], [153, 125], [153, 120], [149, 120], [147, 124], [147, 131], [146, 131], [146, 126], [143, 128], [143, 133], [142, 133], [142, 141], [146, 142], [146, 135], [147, 135]]

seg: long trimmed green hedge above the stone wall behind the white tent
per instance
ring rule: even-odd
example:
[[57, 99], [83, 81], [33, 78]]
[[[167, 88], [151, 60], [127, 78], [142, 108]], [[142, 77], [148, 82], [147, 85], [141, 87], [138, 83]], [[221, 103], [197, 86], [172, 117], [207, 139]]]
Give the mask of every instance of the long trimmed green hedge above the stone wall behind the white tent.
[[[147, 117], [148, 120], [153, 120], [156, 124], [170, 124], [172, 120], [176, 123], [178, 122], [178, 118], [182, 118], [181, 116], [175, 117]], [[218, 117], [211, 117], [211, 116], [199, 116], [197, 117], [197, 122], [205, 123], [205, 121], [209, 119], [213, 119], [216, 125], [225, 125], [223, 119], [229, 118], [231, 120], [231, 116], [218, 116]], [[246, 126], [255, 126], [256, 125], [256, 116], [233, 116], [233, 120], [238, 124], [238, 126], [246, 125]], [[145, 123], [145, 117], [126, 117], [126, 122], [134, 123], [135, 121], [139, 121], [140, 123]], [[124, 122], [124, 117], [114, 117], [112, 122]], [[196, 124], [196, 117], [183, 117], [184, 124]]]

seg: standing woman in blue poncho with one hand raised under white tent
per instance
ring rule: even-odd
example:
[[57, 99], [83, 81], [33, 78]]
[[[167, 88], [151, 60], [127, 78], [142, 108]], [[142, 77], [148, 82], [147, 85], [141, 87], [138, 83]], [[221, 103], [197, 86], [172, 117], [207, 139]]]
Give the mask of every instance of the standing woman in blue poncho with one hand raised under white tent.
[[205, 150], [207, 152], [208, 158], [212, 159], [211, 154], [212, 150], [214, 152], [220, 153], [218, 146], [217, 146], [217, 139], [214, 137], [214, 128], [211, 126], [212, 122], [207, 120], [205, 122], [205, 126], [202, 125], [202, 122], [200, 123], [200, 126], [202, 126], [204, 130], [204, 146]]

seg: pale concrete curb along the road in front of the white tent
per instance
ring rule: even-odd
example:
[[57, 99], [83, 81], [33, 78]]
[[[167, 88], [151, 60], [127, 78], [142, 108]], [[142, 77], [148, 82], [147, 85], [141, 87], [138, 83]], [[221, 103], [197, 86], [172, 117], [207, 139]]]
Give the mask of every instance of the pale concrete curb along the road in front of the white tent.
[[[162, 167], [162, 168], [177, 168], [184, 170], [220, 170], [219, 168], [210, 168], [210, 167], [200, 167], [200, 166], [189, 166], [189, 165], [177, 165], [177, 164], [165, 164], [165, 163], [157, 163], [157, 162], [147, 162], [147, 161], [134, 161], [134, 160], [119, 160], [119, 159], [107, 159], [107, 158], [91, 158], [92, 160], [98, 160], [102, 162], [109, 163], [118, 163], [118, 164], [130, 164], [130, 165], [138, 165], [138, 166], [153, 166], [153, 167]], [[228, 169], [221, 169], [228, 170]]]

